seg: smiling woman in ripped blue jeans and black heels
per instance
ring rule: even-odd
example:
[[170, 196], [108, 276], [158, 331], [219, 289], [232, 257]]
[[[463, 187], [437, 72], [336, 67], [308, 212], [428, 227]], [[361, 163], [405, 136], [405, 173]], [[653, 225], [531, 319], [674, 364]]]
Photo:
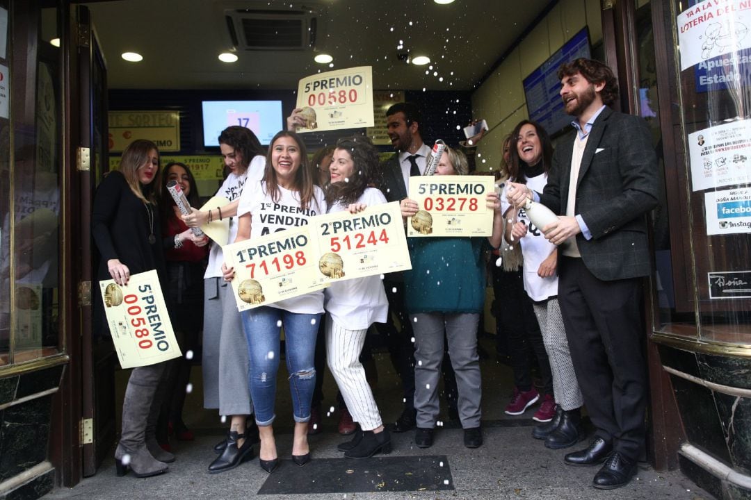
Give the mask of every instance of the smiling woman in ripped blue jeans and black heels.
[[[240, 196], [237, 208], [240, 219], [234, 242], [305, 226], [310, 217], [325, 211], [323, 191], [313, 184], [305, 145], [296, 133], [282, 130], [271, 141], [264, 178], [243, 190]], [[233, 268], [222, 265], [222, 271], [225, 280], [234, 277]], [[318, 291], [241, 313], [250, 358], [250, 393], [261, 437], [258, 459], [261, 469], [268, 473], [279, 464], [271, 424], [276, 417], [274, 401], [282, 325], [295, 421], [292, 460], [298, 466], [310, 461], [307, 430], [315, 386], [313, 358], [323, 306], [324, 294]]]

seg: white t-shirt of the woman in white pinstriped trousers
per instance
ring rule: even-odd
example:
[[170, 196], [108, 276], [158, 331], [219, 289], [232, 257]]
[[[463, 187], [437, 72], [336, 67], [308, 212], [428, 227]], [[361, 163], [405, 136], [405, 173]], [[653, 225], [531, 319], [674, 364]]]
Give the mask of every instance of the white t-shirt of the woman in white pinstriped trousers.
[[[357, 203], [379, 205], [386, 198], [380, 190], [368, 187]], [[330, 212], [346, 210], [347, 205], [336, 203]], [[388, 300], [380, 276], [336, 281], [324, 290], [325, 308], [331, 317], [350, 330], [365, 330], [374, 322], [385, 323], [388, 315]]]

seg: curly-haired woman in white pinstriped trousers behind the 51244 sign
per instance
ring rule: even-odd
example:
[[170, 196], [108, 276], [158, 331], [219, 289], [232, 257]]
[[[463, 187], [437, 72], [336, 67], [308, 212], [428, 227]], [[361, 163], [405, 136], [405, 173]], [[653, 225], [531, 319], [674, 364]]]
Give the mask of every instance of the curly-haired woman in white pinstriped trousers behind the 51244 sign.
[[[365, 136], [339, 139], [329, 166], [326, 204], [330, 212], [362, 211], [386, 202], [379, 185], [378, 151]], [[360, 424], [354, 438], [339, 445], [348, 458], [391, 453], [391, 437], [383, 427], [378, 406], [365, 379], [360, 352], [372, 323], [386, 322], [388, 300], [379, 276], [331, 283], [324, 290], [326, 358], [352, 419]]]

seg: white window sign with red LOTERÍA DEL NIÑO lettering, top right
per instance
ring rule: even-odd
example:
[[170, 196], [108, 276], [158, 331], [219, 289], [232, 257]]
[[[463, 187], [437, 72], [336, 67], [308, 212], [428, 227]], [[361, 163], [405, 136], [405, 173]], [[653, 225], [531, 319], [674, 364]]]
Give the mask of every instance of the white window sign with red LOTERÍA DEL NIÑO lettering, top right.
[[677, 17], [680, 70], [751, 47], [751, 5], [745, 0], [698, 1]]

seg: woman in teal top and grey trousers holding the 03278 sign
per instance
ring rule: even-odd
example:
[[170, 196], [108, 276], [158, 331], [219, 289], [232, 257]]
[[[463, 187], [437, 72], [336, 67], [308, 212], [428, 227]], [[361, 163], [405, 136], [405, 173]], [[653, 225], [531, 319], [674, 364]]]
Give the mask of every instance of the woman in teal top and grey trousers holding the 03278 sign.
[[[466, 175], [468, 170], [464, 154], [446, 147], [436, 175]], [[487, 241], [498, 247], [503, 230], [498, 194], [487, 193], [485, 203], [493, 210], [493, 231]], [[418, 203], [412, 199], [403, 199], [400, 206], [403, 217], [418, 213]], [[408, 238], [412, 271], [405, 275], [406, 307], [415, 331], [415, 444], [420, 448], [433, 445], [444, 338], [457, 378], [464, 445], [482, 445], [477, 325], [485, 302], [485, 241], [476, 237]]]

